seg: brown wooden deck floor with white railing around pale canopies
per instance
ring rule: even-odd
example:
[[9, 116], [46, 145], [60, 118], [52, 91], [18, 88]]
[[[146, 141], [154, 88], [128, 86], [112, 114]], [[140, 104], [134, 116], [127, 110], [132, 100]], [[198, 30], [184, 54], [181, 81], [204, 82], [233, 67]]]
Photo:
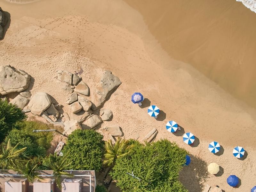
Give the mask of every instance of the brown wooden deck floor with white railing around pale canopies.
[[[66, 171], [69, 172], [70, 171]], [[49, 179], [54, 179], [53, 175], [52, 175], [52, 171], [50, 170], [42, 170], [39, 171], [40, 177], [42, 177], [43, 179], [47, 179], [43, 182], [49, 182]], [[82, 191], [81, 192], [95, 192], [95, 188], [96, 188], [96, 178], [95, 178], [95, 171], [73, 171], [72, 170], [72, 174], [74, 175], [74, 177], [72, 179], [76, 180], [76, 179], [82, 179]], [[13, 170], [0, 170], [0, 191], [4, 192], [5, 191], [5, 181], [8, 181], [10, 179], [12, 180], [19, 180], [22, 179], [23, 177], [21, 177], [21, 175], [17, 174], [15, 171]], [[62, 181], [65, 179], [65, 177], [63, 177]], [[69, 179], [67, 179], [69, 180]], [[18, 181], [20, 182], [20, 181]], [[33, 183], [29, 183], [28, 185], [28, 192], [34, 192], [33, 191]], [[61, 190], [56, 186], [56, 184], [54, 183], [54, 192], [61, 192]]]

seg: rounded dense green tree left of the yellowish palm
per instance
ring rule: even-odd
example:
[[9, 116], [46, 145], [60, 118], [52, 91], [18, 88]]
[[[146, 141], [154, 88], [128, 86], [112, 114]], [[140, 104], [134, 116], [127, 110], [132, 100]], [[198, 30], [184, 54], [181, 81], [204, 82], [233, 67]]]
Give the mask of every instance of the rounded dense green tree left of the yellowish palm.
[[103, 136], [93, 130], [75, 130], [69, 136], [63, 154], [68, 154], [73, 170], [96, 170], [102, 166]]

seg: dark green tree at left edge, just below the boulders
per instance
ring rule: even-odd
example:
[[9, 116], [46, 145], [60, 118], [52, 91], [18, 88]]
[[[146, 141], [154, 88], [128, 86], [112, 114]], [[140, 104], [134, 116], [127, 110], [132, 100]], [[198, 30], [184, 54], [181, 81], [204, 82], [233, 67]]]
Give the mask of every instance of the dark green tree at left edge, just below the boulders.
[[6, 133], [26, 118], [26, 115], [17, 108], [16, 105], [8, 103], [7, 100], [0, 99], [0, 142], [6, 136]]

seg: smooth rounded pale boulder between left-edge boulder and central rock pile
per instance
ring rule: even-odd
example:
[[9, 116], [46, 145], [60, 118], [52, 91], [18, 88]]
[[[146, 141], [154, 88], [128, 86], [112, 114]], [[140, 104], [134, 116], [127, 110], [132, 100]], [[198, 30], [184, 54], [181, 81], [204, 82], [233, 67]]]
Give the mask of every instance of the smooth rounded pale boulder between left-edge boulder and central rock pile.
[[45, 92], [37, 92], [29, 101], [28, 108], [34, 115], [41, 115], [50, 107], [52, 100]]

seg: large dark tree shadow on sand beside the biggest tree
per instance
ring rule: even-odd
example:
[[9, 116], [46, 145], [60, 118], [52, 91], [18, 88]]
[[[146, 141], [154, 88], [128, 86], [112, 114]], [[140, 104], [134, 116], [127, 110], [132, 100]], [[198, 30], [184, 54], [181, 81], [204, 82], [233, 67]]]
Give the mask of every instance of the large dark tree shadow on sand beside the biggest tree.
[[[188, 191], [203, 191], [205, 181], [209, 177], [207, 163], [199, 157], [189, 155], [191, 163], [180, 171], [179, 180]], [[188, 177], [189, 175], [189, 177]]]

